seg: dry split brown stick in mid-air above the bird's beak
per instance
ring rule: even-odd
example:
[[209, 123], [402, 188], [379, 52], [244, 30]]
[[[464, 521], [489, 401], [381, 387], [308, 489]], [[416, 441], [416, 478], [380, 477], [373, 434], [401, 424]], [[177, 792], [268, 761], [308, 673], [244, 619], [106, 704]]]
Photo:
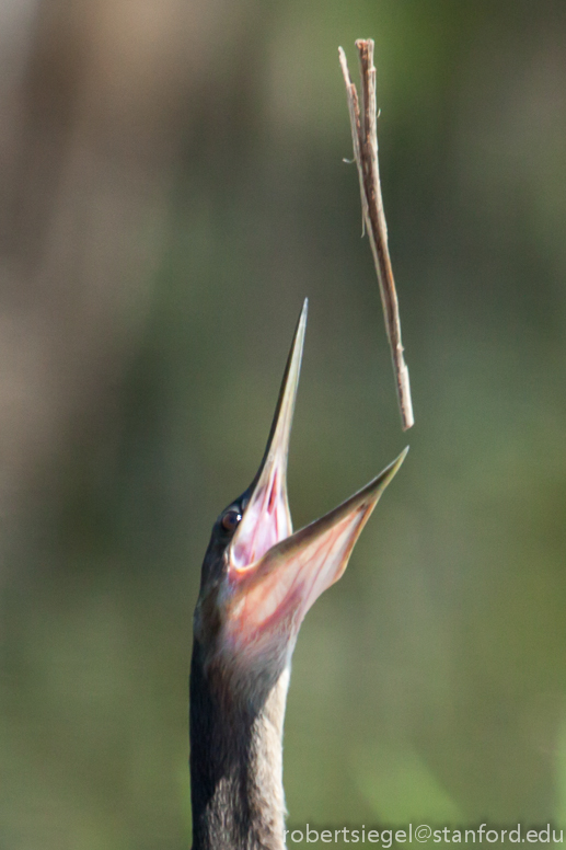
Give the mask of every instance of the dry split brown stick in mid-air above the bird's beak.
[[351, 82], [346, 55], [338, 48], [342, 72], [346, 83], [348, 110], [350, 114], [354, 158], [358, 165], [360, 180], [361, 207], [363, 221], [369, 236], [371, 252], [378, 273], [381, 303], [385, 319], [393, 368], [395, 371], [398, 406], [403, 430], [414, 425], [413, 403], [411, 401], [411, 384], [408, 369], [403, 358], [401, 342], [401, 321], [398, 318], [397, 294], [393, 279], [393, 269], [388, 249], [388, 227], [383, 213], [383, 198], [378, 165], [378, 128], [376, 104], [376, 68], [373, 66], [373, 41], [358, 39], [356, 42], [360, 60], [361, 77], [361, 116], [356, 85]]

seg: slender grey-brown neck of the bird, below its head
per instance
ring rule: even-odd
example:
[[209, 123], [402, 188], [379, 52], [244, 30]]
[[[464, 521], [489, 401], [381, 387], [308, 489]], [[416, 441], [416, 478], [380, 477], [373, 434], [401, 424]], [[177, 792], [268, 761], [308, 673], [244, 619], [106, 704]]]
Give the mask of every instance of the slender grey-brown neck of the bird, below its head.
[[286, 667], [255, 680], [253, 699], [206, 670], [195, 642], [190, 666], [193, 850], [285, 850], [282, 725]]

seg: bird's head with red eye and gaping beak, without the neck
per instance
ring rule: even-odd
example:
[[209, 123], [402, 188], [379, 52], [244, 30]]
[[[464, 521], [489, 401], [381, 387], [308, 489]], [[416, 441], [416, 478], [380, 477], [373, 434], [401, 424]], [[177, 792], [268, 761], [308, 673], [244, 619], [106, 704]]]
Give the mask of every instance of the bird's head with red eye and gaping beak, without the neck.
[[267, 447], [252, 484], [218, 517], [203, 565], [195, 639], [205, 668], [223, 677], [275, 680], [300, 624], [336, 582], [381, 494], [408, 449], [362, 490], [293, 533], [287, 496], [289, 437], [299, 383], [304, 302]]

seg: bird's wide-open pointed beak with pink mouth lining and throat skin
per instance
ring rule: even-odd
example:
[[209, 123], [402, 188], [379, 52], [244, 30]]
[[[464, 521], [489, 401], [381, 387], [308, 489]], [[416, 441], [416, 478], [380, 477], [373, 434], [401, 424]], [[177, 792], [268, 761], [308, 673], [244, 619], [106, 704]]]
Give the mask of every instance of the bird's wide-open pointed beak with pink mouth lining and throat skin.
[[305, 301], [267, 448], [230, 547], [230, 631], [234, 639], [246, 643], [285, 623], [298, 631], [315, 599], [346, 570], [361, 529], [408, 451], [405, 449], [380, 475], [330, 514], [292, 533], [287, 458], [307, 308]]

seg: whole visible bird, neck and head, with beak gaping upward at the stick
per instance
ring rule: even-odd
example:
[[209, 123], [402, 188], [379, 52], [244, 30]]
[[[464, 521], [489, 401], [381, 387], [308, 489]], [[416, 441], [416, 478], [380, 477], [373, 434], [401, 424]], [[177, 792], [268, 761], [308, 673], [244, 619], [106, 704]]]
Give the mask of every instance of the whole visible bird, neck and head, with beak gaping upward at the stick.
[[285, 848], [281, 736], [297, 634], [406, 453], [292, 532], [287, 453], [305, 325], [307, 301], [262, 464], [218, 517], [203, 564], [190, 666], [193, 850]]

